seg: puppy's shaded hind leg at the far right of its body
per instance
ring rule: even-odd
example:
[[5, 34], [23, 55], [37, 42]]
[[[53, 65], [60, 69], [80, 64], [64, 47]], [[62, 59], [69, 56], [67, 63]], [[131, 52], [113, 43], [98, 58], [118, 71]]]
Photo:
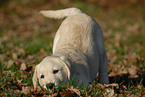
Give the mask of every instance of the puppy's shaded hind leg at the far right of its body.
[[104, 38], [101, 28], [97, 24], [96, 26], [96, 44], [97, 44], [97, 51], [99, 54], [99, 82], [102, 84], [109, 84], [109, 77], [107, 73], [108, 67], [108, 60], [107, 55], [104, 47]]

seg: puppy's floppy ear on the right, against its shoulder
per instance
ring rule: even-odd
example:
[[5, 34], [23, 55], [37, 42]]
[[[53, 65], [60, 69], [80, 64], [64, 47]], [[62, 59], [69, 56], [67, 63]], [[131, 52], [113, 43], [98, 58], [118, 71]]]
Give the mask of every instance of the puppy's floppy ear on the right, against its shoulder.
[[70, 69], [69, 69], [69, 67], [70, 67], [69, 64], [70, 63], [68, 62], [68, 60], [67, 60], [67, 58], [65, 56], [61, 56], [60, 59], [62, 60], [64, 66], [65, 66], [65, 68], [67, 70], [67, 77], [68, 77], [68, 79], [70, 79]]

